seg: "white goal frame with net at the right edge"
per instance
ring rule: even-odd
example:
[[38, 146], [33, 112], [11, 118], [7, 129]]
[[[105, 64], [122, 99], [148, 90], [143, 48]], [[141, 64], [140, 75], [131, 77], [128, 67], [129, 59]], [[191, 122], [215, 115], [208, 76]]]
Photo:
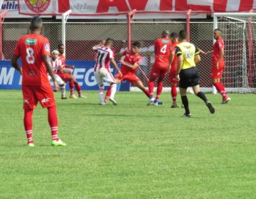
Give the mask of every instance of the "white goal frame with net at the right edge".
[[256, 14], [213, 15], [213, 29], [223, 31], [225, 68], [223, 83], [228, 92], [255, 92]]

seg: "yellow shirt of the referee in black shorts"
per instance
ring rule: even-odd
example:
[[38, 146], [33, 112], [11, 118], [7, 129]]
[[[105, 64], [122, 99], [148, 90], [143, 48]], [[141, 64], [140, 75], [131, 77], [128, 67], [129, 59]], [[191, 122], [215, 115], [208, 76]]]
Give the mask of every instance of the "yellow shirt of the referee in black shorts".
[[198, 55], [200, 52], [195, 45], [189, 42], [181, 42], [176, 45], [176, 55], [183, 56], [183, 63], [181, 70], [196, 67], [195, 55]]

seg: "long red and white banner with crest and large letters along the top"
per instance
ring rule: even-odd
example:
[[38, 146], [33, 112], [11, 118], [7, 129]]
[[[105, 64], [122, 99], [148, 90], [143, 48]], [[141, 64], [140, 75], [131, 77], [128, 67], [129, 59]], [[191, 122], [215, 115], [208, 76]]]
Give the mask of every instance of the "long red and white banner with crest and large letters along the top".
[[[243, 12], [255, 9], [253, 0], [18, 0], [19, 13], [60, 15], [69, 9], [73, 16], [124, 15], [137, 9], [139, 14]], [[148, 15], [147, 15], [148, 18]]]

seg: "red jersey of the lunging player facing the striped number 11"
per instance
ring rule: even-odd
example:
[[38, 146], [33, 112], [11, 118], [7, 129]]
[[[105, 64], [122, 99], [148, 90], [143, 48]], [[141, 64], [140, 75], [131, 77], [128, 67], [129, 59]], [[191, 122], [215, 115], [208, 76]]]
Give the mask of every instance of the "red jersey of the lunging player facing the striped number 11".
[[[142, 61], [142, 56], [137, 54], [134, 55], [131, 51], [129, 50], [124, 50], [122, 55], [125, 55], [124, 62], [129, 63], [130, 65], [134, 65], [134, 63], [137, 63], [137, 65], [140, 65]], [[137, 68], [132, 70], [131, 68], [128, 68], [125, 65], [121, 65], [121, 72], [122, 74], [135, 74], [137, 72]]]

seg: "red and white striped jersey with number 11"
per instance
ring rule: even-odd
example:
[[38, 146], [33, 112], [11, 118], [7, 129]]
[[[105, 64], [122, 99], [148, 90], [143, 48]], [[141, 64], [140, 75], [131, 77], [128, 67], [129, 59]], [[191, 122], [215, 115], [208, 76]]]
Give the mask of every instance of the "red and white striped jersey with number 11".
[[94, 71], [100, 70], [100, 68], [106, 68], [108, 71], [110, 71], [111, 58], [114, 58], [114, 53], [109, 47], [103, 45], [97, 48]]

